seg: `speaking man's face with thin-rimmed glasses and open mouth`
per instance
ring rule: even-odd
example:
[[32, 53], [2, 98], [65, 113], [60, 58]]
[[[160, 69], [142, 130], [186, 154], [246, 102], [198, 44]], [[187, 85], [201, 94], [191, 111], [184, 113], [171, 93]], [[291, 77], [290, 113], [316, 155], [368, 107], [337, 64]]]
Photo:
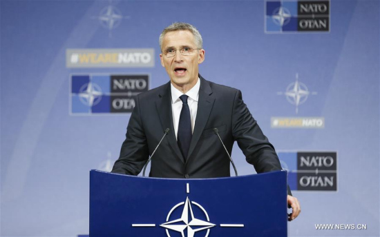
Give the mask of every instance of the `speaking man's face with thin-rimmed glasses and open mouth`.
[[[193, 48], [192, 55], [184, 56], [180, 53], [182, 48]], [[167, 70], [171, 83], [176, 88], [189, 90], [198, 80], [198, 64], [205, 60], [205, 50], [196, 50], [194, 36], [188, 30], [167, 32], [162, 39], [161, 65]], [[175, 56], [167, 58], [168, 49], [178, 50]]]

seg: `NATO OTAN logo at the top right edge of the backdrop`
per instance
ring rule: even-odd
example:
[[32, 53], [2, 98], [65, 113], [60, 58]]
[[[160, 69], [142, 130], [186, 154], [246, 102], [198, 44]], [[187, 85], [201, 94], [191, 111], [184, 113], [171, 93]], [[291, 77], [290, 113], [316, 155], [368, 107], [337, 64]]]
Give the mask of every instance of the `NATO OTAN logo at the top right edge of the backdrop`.
[[330, 1], [266, 1], [265, 32], [329, 32]]

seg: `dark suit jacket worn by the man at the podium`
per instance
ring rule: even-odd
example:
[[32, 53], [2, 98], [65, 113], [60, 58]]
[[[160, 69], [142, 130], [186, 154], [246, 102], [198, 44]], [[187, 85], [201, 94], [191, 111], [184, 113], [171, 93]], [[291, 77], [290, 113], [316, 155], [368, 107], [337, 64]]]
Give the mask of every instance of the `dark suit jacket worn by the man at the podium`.
[[149, 176], [162, 178], [215, 178], [230, 176], [230, 161], [213, 128], [231, 154], [234, 141], [256, 172], [281, 169], [274, 147], [243, 102], [240, 90], [206, 81], [200, 76], [198, 112], [189, 154], [182, 157], [175, 138], [170, 82], [137, 96], [113, 173], [137, 175], [164, 138], [151, 161]]

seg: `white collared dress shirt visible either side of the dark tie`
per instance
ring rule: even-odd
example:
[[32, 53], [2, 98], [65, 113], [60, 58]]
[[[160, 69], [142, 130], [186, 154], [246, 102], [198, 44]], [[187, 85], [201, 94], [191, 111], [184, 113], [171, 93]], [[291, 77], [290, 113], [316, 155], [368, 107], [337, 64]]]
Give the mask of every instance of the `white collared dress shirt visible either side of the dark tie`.
[[[177, 138], [178, 124], [180, 123], [180, 114], [182, 110], [182, 101], [180, 99], [180, 96], [182, 96], [183, 93], [180, 92], [180, 90], [178, 90], [177, 88], [175, 88], [173, 84], [170, 83], [170, 86], [171, 86], [171, 111], [173, 113], [173, 126], [174, 126], [174, 131], [175, 131], [175, 137]], [[200, 79], [198, 78], [196, 85], [194, 85], [188, 92], [186, 92], [186, 95], [189, 96], [189, 98], [187, 98], [187, 104], [189, 105], [189, 109], [190, 109], [191, 132], [194, 131], [194, 125], [196, 124], [199, 88], [200, 88]]]

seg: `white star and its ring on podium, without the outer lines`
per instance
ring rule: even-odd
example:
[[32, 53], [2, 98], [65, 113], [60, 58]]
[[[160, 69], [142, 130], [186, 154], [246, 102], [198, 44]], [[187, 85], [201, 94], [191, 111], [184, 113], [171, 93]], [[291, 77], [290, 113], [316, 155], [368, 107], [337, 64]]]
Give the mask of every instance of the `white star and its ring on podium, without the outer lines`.
[[[200, 220], [194, 216], [193, 208], [191, 207], [191, 204], [197, 205], [198, 207], [200, 207], [200, 209], [202, 209], [202, 211], [205, 213], [207, 221]], [[171, 212], [173, 212], [173, 210], [179, 207], [180, 205], [184, 206], [182, 210], [181, 218], [168, 221], [171, 215]], [[169, 212], [167, 216], [167, 223], [163, 223], [160, 226], [167, 229], [168, 237], [170, 237], [168, 229], [180, 232], [182, 237], [185, 237], [185, 236], [193, 237], [197, 231], [207, 229], [207, 234], [206, 234], [206, 237], [207, 237], [209, 236], [209, 231], [210, 231], [209, 228], [214, 227], [215, 225], [213, 223], [209, 223], [209, 216], [207, 212], [205, 211], [205, 209], [202, 206], [200, 206], [198, 203], [191, 202], [189, 198], [187, 197], [184, 203], [183, 202], [179, 203], [178, 205], [175, 205], [171, 209], [171, 211]]]

